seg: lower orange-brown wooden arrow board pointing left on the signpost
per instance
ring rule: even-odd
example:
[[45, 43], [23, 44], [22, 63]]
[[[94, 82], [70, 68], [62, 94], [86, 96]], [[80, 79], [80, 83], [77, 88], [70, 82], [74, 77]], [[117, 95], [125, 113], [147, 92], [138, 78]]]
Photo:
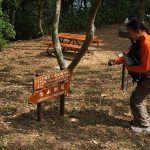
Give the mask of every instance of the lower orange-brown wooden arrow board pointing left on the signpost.
[[66, 94], [69, 92], [69, 90], [70, 90], [70, 82], [65, 82], [62, 84], [57, 84], [56, 86], [50, 88], [45, 88], [36, 91], [29, 97], [28, 100], [34, 104], [38, 104], [50, 98]]

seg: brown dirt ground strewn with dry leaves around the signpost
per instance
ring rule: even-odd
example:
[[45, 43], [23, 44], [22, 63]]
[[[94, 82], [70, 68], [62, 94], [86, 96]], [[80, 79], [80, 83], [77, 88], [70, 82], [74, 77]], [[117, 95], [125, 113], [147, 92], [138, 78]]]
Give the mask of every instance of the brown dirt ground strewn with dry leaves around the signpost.
[[[98, 50], [91, 44], [74, 70], [64, 117], [57, 97], [43, 103], [42, 122], [28, 98], [36, 72], [58, 71], [56, 57], [44, 45], [51, 37], [17, 41], [0, 52], [0, 150], [149, 150], [150, 134], [129, 130], [129, 97], [135, 88], [131, 78], [128, 91], [122, 91], [122, 66], [107, 66], [108, 59], [130, 47], [129, 39], [118, 37], [118, 28], [124, 26], [97, 29], [104, 42]], [[64, 57], [69, 64], [74, 53], [66, 51]], [[150, 112], [149, 99], [145, 103]]]

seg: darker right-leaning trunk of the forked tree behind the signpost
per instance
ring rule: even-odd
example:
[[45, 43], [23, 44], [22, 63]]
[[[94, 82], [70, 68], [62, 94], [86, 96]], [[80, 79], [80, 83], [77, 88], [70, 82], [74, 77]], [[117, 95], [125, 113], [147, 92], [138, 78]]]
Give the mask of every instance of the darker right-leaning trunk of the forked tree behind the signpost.
[[80, 62], [81, 58], [84, 56], [85, 52], [88, 50], [88, 47], [90, 45], [90, 42], [92, 40], [92, 37], [94, 35], [94, 21], [95, 21], [95, 16], [97, 13], [97, 10], [99, 8], [99, 5], [101, 3], [101, 0], [95, 0], [93, 3], [93, 6], [91, 8], [91, 12], [89, 15], [88, 19], [88, 24], [87, 24], [87, 33], [86, 33], [86, 39], [85, 42], [83, 43], [81, 49], [71, 62], [71, 64], [68, 66], [70, 70], [74, 70], [74, 68], [77, 66], [77, 64]]

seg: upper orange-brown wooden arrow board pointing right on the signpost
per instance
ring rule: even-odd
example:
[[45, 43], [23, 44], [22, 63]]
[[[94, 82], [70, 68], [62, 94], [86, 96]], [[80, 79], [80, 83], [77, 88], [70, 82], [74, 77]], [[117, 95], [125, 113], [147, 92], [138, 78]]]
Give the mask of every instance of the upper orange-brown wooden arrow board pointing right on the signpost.
[[73, 71], [65, 69], [53, 74], [35, 77], [33, 79], [33, 89], [38, 90], [51, 86], [53, 84], [58, 84], [60, 82], [70, 79], [71, 76], [73, 76], [73, 74], [74, 74]]

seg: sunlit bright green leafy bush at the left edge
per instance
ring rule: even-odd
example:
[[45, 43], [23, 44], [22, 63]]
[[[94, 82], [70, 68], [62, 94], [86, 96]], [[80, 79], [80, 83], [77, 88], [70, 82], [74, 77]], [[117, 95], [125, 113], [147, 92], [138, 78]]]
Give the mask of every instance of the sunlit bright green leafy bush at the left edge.
[[0, 0], [0, 49], [6, 45], [7, 40], [15, 38], [13, 26], [9, 23], [8, 15], [2, 12]]

